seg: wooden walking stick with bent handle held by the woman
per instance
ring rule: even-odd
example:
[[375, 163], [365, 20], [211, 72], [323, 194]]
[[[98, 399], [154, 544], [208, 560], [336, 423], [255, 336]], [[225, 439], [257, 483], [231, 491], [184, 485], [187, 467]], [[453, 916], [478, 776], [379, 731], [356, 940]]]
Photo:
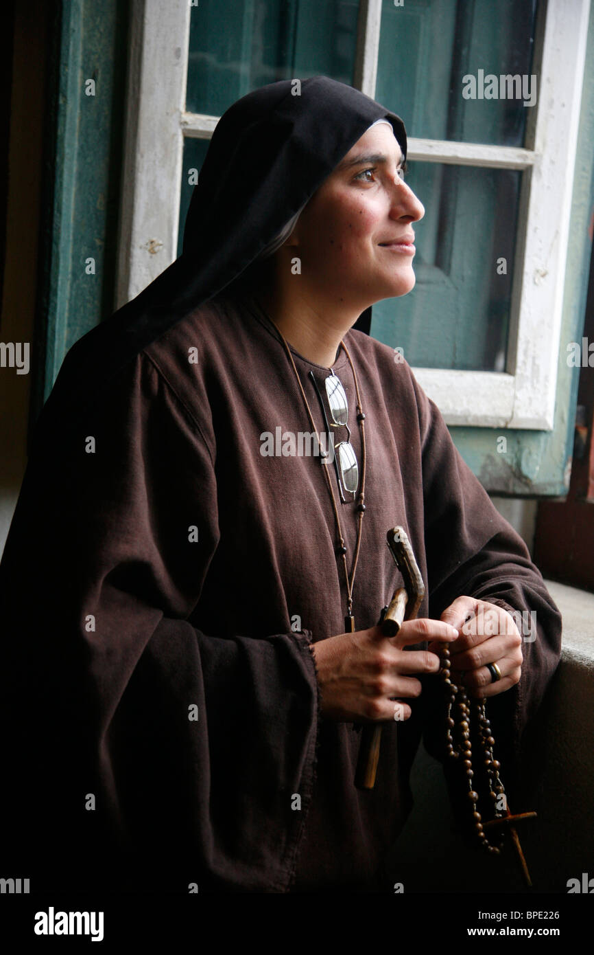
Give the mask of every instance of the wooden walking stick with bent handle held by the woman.
[[[386, 538], [404, 586], [395, 590], [390, 604], [382, 610], [379, 625], [384, 636], [395, 637], [404, 620], [413, 620], [417, 616], [425, 587], [404, 529], [392, 527]], [[380, 741], [381, 723], [363, 727], [355, 774], [355, 785], [358, 789], [373, 789], [376, 785]]]

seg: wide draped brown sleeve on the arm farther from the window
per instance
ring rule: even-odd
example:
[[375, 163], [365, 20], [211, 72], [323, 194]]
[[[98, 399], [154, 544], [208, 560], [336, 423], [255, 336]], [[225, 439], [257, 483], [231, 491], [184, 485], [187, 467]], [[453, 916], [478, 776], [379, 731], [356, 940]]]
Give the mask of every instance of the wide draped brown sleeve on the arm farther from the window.
[[4, 861], [31, 891], [285, 891], [312, 635], [192, 626], [224, 449], [144, 353], [96, 404], [42, 418], [0, 565]]

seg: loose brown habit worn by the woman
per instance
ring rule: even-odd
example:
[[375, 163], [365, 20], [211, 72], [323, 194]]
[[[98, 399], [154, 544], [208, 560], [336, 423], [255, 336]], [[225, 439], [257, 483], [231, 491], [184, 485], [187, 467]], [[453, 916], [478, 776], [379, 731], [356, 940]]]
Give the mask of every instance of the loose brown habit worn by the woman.
[[[357, 628], [401, 580], [396, 524], [426, 585], [420, 616], [461, 594], [535, 610], [522, 682], [489, 705], [513, 753], [558, 663], [558, 610], [408, 365], [360, 331], [344, 341], [366, 414]], [[292, 353], [322, 431], [308, 372], [323, 391], [328, 370]], [[353, 415], [343, 350], [334, 370]], [[2, 809], [34, 889], [389, 888], [422, 733], [439, 752], [436, 681], [385, 725], [376, 788], [359, 792], [360, 736], [320, 718], [308, 649], [344, 630], [331, 501], [317, 457], [260, 454], [277, 427], [311, 430], [276, 329], [236, 283], [119, 371], [51, 460], [33, 454], [2, 576]], [[350, 568], [355, 504], [338, 506]]]

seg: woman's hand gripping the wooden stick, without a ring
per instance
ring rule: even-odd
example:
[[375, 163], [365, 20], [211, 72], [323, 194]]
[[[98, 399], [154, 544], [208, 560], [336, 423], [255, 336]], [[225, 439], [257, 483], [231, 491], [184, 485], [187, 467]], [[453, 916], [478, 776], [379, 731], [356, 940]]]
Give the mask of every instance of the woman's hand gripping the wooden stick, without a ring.
[[[437, 673], [440, 658], [429, 650], [405, 650], [424, 641], [453, 643], [458, 630], [440, 620], [404, 621], [396, 637], [383, 635], [381, 626], [355, 633], [339, 633], [311, 645], [316, 659], [320, 709], [337, 722], [379, 722], [399, 719], [411, 709], [401, 700], [420, 695], [415, 673]], [[392, 697], [392, 699], [391, 699]]]

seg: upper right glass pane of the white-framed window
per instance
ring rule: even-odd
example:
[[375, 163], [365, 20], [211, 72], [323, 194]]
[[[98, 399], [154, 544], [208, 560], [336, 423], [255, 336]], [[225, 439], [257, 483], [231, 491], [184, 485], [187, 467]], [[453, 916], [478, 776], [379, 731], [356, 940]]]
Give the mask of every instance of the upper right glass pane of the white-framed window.
[[539, 92], [540, 77], [530, 78], [536, 8], [537, 0], [383, 0], [376, 98], [412, 137], [523, 146], [533, 108], [524, 99], [534, 105]]

